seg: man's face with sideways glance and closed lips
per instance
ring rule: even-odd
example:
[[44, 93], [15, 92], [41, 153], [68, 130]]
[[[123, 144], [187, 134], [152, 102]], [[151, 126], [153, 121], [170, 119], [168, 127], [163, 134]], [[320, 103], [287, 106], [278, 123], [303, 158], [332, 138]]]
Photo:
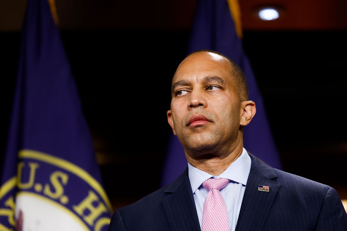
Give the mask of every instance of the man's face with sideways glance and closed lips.
[[240, 139], [241, 100], [230, 62], [217, 54], [188, 56], [172, 80], [168, 122], [186, 150], [232, 149]]

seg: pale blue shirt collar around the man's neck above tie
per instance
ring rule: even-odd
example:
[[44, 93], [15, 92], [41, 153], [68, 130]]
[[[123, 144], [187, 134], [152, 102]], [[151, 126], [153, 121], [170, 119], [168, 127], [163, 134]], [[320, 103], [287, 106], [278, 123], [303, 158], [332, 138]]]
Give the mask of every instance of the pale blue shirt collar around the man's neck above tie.
[[249, 171], [251, 170], [251, 158], [245, 148], [243, 148], [241, 156], [239, 156], [231, 165], [222, 172], [219, 176], [212, 176], [198, 168], [193, 167], [188, 163], [188, 176], [191, 182], [193, 194], [196, 189], [207, 179], [214, 178], [227, 178], [229, 180], [241, 183], [246, 186]]

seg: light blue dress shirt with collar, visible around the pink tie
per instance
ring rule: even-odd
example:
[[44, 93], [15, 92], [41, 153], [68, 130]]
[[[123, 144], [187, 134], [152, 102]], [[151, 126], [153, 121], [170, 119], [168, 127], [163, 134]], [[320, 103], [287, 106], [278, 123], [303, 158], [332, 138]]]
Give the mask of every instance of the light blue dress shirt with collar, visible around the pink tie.
[[202, 183], [209, 178], [227, 178], [230, 182], [220, 190], [228, 212], [229, 230], [235, 231], [238, 215], [245, 193], [246, 183], [251, 170], [251, 158], [243, 148], [241, 156], [219, 176], [212, 176], [207, 172], [197, 169], [188, 163], [188, 175], [191, 181], [192, 192], [199, 218], [200, 229], [202, 228], [202, 212], [207, 194], [209, 193]]

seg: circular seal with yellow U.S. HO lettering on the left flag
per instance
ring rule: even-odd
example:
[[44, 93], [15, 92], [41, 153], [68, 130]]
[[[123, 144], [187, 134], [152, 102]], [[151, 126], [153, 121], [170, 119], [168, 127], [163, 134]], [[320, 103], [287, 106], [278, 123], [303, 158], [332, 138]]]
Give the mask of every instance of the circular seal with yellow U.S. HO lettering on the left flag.
[[[19, 152], [17, 176], [0, 190], [0, 230], [106, 231], [112, 207], [88, 172], [33, 150]], [[6, 219], [4, 219], [6, 218]]]

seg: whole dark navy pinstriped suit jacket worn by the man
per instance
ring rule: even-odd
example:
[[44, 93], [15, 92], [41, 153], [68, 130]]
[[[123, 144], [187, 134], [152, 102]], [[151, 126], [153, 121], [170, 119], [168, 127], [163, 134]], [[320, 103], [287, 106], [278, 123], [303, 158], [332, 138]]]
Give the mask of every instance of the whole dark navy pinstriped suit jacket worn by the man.
[[[236, 231], [341, 231], [347, 215], [336, 190], [265, 165], [254, 156]], [[270, 187], [270, 192], [258, 190]], [[109, 231], [200, 230], [188, 168], [175, 181], [116, 210]]]

